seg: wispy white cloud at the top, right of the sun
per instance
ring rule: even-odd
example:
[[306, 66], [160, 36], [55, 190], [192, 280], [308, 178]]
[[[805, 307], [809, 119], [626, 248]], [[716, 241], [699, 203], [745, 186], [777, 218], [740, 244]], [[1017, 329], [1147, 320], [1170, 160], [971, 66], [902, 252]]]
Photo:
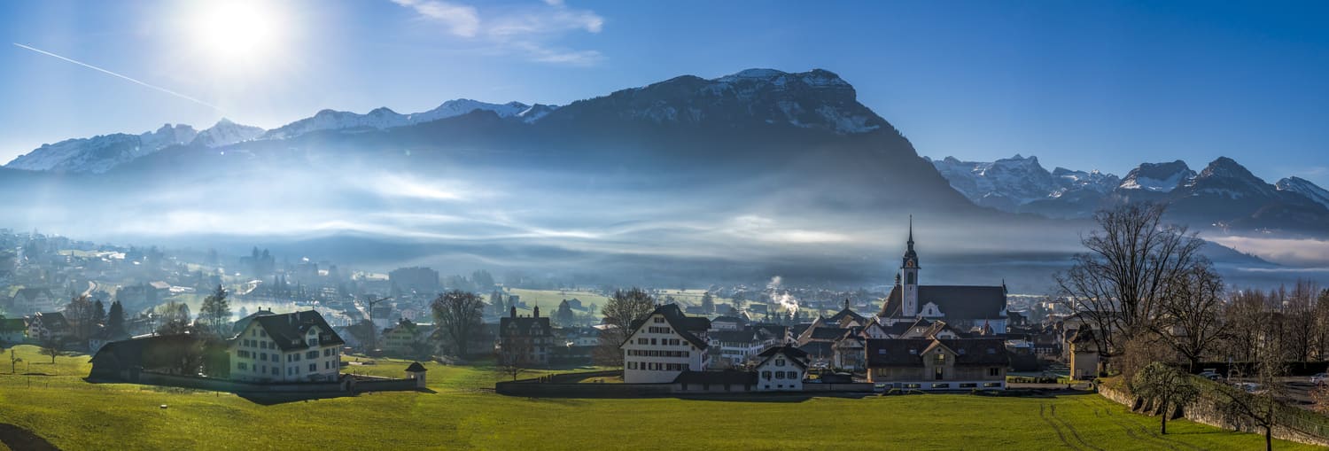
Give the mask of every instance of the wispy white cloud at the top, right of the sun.
[[561, 65], [595, 65], [605, 59], [598, 51], [571, 49], [553, 44], [573, 32], [599, 33], [605, 17], [590, 9], [569, 8], [562, 0], [544, 5], [494, 9], [481, 17], [474, 7], [440, 0], [392, 0], [413, 9], [419, 19], [441, 24], [448, 33], [480, 40], [502, 52], [518, 53], [530, 61]]

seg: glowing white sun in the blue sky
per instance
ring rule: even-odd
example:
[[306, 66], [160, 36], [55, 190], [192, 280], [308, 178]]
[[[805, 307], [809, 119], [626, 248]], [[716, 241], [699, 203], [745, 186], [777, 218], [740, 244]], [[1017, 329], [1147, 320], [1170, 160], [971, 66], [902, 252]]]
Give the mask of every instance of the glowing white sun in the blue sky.
[[283, 12], [275, 1], [199, 1], [190, 20], [197, 51], [221, 64], [262, 64], [283, 44]]

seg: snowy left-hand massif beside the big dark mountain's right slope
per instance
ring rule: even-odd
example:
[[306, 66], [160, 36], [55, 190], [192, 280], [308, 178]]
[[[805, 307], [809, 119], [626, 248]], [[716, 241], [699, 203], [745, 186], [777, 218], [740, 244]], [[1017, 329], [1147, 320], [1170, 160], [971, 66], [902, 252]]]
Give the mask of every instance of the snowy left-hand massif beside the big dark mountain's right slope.
[[1118, 185], [1116, 176], [1098, 170], [1057, 168], [1047, 172], [1038, 157], [1001, 158], [993, 162], [960, 161], [956, 157], [930, 160], [950, 186], [982, 206], [1019, 212], [1021, 206], [1061, 197], [1102, 197]]

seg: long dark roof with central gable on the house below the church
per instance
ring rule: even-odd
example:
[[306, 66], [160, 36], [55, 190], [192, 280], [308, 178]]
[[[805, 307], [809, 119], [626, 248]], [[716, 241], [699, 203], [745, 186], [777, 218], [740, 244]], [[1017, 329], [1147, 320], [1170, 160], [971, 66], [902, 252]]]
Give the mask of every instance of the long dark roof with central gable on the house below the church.
[[1006, 342], [997, 338], [957, 338], [957, 339], [869, 339], [865, 353], [869, 367], [922, 366], [922, 355], [928, 350], [944, 346], [956, 355], [956, 365], [1009, 365]]

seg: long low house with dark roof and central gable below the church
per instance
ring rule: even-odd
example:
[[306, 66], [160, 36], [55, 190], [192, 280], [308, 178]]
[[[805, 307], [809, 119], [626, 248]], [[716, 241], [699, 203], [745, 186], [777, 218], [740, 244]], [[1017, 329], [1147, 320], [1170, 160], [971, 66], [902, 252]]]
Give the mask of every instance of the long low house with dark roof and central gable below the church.
[[1002, 339], [869, 339], [865, 347], [868, 380], [881, 388], [1006, 388], [1010, 358]]

